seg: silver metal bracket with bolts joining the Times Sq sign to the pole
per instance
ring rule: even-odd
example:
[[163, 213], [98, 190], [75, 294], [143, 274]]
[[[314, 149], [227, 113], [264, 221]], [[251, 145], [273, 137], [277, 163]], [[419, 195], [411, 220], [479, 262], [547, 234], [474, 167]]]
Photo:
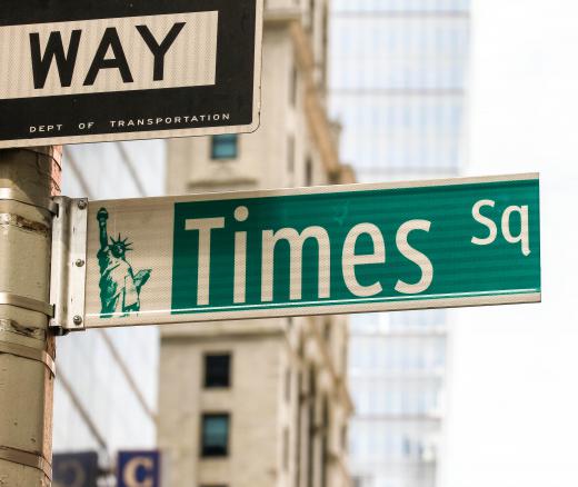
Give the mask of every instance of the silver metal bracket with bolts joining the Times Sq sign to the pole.
[[56, 197], [58, 212], [52, 220], [50, 302], [57, 332], [84, 329], [87, 281], [88, 199]]

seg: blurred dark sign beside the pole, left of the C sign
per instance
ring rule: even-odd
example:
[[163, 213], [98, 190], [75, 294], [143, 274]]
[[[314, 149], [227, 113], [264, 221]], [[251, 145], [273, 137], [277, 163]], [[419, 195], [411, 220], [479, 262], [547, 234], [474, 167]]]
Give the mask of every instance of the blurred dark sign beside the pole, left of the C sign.
[[97, 487], [96, 451], [56, 454], [52, 456], [54, 487]]

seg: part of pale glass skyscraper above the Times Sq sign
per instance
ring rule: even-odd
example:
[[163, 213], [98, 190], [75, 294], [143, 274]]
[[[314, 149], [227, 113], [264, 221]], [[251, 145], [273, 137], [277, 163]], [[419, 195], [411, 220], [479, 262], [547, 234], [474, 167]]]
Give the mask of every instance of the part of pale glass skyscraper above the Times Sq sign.
[[456, 173], [469, 0], [333, 0], [330, 95], [360, 180]]

